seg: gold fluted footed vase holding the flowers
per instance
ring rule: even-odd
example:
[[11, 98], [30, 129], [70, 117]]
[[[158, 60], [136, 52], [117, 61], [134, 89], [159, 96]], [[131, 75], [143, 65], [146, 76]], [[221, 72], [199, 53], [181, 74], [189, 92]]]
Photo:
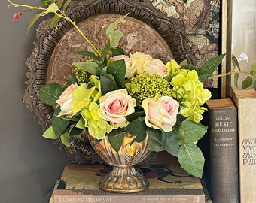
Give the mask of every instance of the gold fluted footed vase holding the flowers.
[[150, 153], [147, 150], [148, 136], [140, 143], [131, 144], [135, 135], [126, 133], [118, 153], [111, 147], [108, 136], [105, 136], [99, 144], [96, 144], [92, 136], [88, 137], [99, 157], [114, 167], [99, 183], [99, 189], [106, 192], [132, 193], [148, 188], [148, 180], [133, 167]]

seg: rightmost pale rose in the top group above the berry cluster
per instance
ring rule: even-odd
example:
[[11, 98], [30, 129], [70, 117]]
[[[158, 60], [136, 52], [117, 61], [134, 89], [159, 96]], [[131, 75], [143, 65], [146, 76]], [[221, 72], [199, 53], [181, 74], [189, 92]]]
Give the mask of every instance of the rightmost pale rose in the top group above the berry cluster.
[[162, 77], [165, 77], [168, 74], [168, 68], [160, 59], [154, 59], [148, 65], [145, 65], [143, 70], [150, 74], [158, 74]]

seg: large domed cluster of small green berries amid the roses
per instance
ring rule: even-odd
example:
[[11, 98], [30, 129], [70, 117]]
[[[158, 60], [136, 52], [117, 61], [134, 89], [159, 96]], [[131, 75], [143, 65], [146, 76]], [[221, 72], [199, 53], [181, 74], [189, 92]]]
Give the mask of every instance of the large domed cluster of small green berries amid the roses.
[[156, 95], [172, 96], [172, 89], [167, 80], [157, 74], [144, 72], [130, 79], [126, 88], [133, 98], [139, 98], [139, 102], [145, 98], [153, 98]]

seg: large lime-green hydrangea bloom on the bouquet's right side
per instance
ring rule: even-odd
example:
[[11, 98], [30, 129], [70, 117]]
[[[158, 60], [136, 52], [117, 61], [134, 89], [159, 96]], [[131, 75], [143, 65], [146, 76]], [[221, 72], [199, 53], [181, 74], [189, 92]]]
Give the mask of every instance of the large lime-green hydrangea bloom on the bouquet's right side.
[[180, 103], [179, 114], [199, 123], [203, 119], [206, 108], [202, 105], [211, 98], [211, 92], [203, 88], [203, 83], [198, 80], [197, 71], [181, 69], [176, 71], [171, 80], [172, 96]]

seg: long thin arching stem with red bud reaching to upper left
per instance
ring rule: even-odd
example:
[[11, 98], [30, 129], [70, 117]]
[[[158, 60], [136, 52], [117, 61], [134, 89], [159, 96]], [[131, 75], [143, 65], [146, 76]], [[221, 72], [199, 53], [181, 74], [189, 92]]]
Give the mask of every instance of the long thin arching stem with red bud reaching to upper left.
[[[75, 27], [75, 29], [78, 30], [79, 34], [85, 39], [85, 41], [87, 41], [88, 44], [90, 44], [91, 47], [93, 47], [93, 50], [95, 51], [95, 53], [98, 55], [98, 56], [101, 56], [101, 51], [99, 49], [97, 49], [93, 43], [84, 35], [84, 33], [81, 31], [81, 29], [77, 26], [77, 24], [75, 23], [75, 21], [71, 20], [64, 12], [64, 9], [63, 11], [58, 7], [58, 5], [56, 5], [56, 3], [51, 3], [50, 5], [47, 5], [48, 7], [47, 8], [43, 8], [41, 6], [30, 6], [30, 5], [20, 5], [20, 4], [16, 4], [14, 2], [11, 2], [11, 0], [8, 0], [8, 2], [14, 6], [14, 7], [21, 7], [21, 8], [26, 8], [27, 10], [38, 10], [38, 11], [41, 11], [40, 14], [36, 14], [35, 15], [35, 18], [32, 18], [32, 20], [30, 21], [30, 23], [35, 23], [35, 20], [37, 20], [38, 17], [40, 16], [45, 16], [49, 13], [53, 13], [55, 14], [56, 17], [58, 17], [59, 19], [62, 18], [64, 20], [67, 20], [69, 23], [72, 23], [72, 26]], [[9, 5], [9, 6], [11, 6]], [[24, 10], [26, 11], [26, 10]], [[24, 12], [22, 11], [22, 12]], [[17, 21], [18, 20], [18, 17], [20, 14], [22, 14], [22, 12], [20, 13], [16, 13], [14, 14], [14, 20]], [[21, 16], [21, 15], [20, 15]], [[29, 25], [30, 27], [31, 25]]]

